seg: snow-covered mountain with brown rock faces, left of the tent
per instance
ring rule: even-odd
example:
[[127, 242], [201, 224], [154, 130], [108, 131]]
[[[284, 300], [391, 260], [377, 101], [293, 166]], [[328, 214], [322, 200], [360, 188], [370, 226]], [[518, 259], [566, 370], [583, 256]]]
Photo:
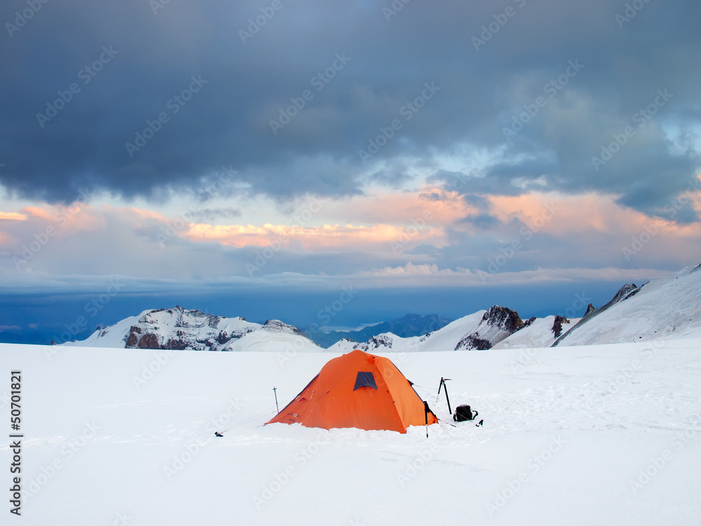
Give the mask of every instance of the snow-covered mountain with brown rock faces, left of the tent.
[[244, 318], [212, 316], [181, 306], [143, 311], [82, 341], [63, 345], [194, 351], [322, 351], [298, 328], [278, 320], [264, 325]]

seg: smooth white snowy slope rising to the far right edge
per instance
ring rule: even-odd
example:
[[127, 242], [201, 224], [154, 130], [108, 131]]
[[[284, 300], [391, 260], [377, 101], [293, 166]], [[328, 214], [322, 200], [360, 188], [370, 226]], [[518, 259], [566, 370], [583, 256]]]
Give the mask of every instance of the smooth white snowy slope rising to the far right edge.
[[701, 337], [701, 265], [643, 285], [583, 320], [557, 346]]

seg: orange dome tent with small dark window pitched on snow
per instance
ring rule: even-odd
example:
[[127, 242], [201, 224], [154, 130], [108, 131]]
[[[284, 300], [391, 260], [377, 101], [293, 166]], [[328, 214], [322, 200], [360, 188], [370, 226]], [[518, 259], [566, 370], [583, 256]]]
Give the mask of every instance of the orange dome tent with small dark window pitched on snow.
[[[428, 406], [427, 406], [428, 407]], [[329, 360], [270, 422], [407, 432], [426, 424], [423, 400], [388, 359], [359, 350]], [[433, 412], [428, 423], [436, 424]]]

